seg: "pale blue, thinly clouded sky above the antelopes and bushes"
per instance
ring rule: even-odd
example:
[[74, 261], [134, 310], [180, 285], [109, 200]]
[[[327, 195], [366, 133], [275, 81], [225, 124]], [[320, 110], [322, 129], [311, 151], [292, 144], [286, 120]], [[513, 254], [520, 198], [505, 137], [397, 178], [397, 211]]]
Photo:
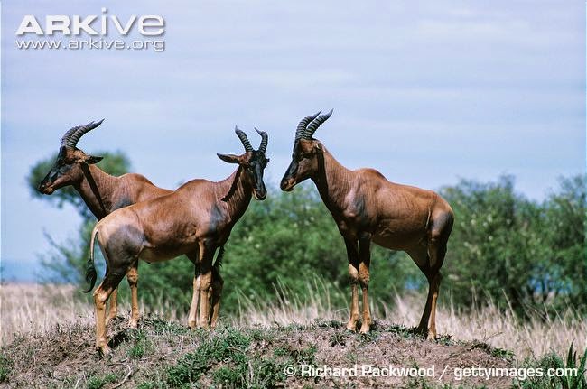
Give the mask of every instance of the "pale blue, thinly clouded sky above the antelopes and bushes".
[[[266, 181], [276, 185], [299, 120], [334, 108], [315, 137], [351, 169], [427, 189], [512, 174], [519, 192], [544, 199], [559, 177], [585, 171], [584, 7], [3, 1], [4, 277], [37, 277], [51, 250], [44, 232], [57, 242], [77, 235], [75, 210], [33, 199], [25, 180], [68, 128], [100, 118], [79, 148], [121, 150], [164, 188], [227, 177], [234, 166], [215, 154], [240, 153], [235, 125], [254, 144], [254, 126], [269, 134]], [[28, 14], [42, 24], [46, 15], [161, 15], [165, 50], [19, 50]]]

